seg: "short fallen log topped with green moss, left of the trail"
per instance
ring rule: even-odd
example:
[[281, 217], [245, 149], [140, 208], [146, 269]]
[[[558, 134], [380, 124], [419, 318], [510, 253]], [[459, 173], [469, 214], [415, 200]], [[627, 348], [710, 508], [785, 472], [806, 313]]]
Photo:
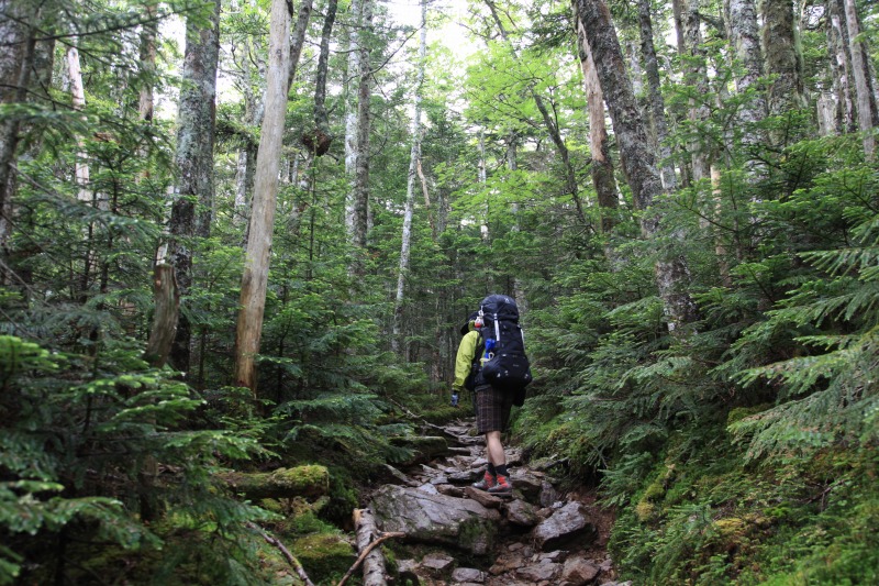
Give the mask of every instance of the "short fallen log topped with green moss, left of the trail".
[[330, 493], [330, 473], [324, 466], [308, 465], [272, 472], [231, 472], [221, 478], [251, 500], [264, 498], [320, 497]]

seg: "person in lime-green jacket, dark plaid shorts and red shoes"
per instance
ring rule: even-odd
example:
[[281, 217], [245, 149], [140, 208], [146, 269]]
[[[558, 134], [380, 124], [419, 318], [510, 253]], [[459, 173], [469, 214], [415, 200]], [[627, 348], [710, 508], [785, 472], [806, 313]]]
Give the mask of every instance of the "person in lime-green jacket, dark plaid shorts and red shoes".
[[479, 312], [475, 311], [460, 329], [463, 338], [455, 358], [455, 382], [452, 384], [452, 389], [456, 394], [464, 388], [474, 391], [477, 432], [486, 436], [488, 469], [482, 479], [472, 486], [496, 495], [510, 495], [513, 487], [510, 485], [510, 473], [507, 471], [507, 455], [503, 453], [501, 433], [507, 431], [510, 422], [514, 396], [492, 387], [482, 377], [480, 358], [485, 341], [476, 328], [477, 324], [481, 327], [481, 321], [477, 321], [479, 319]]

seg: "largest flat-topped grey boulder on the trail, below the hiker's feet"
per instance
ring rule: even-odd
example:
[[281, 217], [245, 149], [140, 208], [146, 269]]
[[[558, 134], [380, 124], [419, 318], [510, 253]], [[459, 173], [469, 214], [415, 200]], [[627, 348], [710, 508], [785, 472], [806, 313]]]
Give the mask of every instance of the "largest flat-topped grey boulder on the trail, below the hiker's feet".
[[429, 495], [387, 485], [372, 496], [371, 508], [383, 531], [410, 539], [454, 545], [477, 555], [490, 551], [500, 513], [471, 499]]

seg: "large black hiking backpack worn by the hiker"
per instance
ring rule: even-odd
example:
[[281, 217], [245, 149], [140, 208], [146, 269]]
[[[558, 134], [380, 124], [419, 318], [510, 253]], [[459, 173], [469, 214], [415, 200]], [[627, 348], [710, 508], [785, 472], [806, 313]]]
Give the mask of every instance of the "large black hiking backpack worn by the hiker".
[[523, 391], [532, 377], [515, 301], [505, 295], [490, 295], [479, 303], [479, 317], [485, 340], [482, 377], [498, 389]]

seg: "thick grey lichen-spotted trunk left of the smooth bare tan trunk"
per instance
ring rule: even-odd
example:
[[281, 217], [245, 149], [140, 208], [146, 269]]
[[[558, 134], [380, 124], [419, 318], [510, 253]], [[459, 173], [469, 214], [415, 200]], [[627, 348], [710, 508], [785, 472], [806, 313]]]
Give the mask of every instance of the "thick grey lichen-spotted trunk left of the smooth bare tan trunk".
[[[213, 207], [213, 144], [216, 113], [216, 66], [220, 56], [220, 0], [214, 0], [211, 25], [187, 20], [187, 43], [178, 108], [179, 169], [170, 217], [168, 257], [174, 265], [180, 298], [192, 287], [192, 250], [196, 236], [210, 235]], [[192, 328], [180, 314], [169, 361], [188, 373]]]

